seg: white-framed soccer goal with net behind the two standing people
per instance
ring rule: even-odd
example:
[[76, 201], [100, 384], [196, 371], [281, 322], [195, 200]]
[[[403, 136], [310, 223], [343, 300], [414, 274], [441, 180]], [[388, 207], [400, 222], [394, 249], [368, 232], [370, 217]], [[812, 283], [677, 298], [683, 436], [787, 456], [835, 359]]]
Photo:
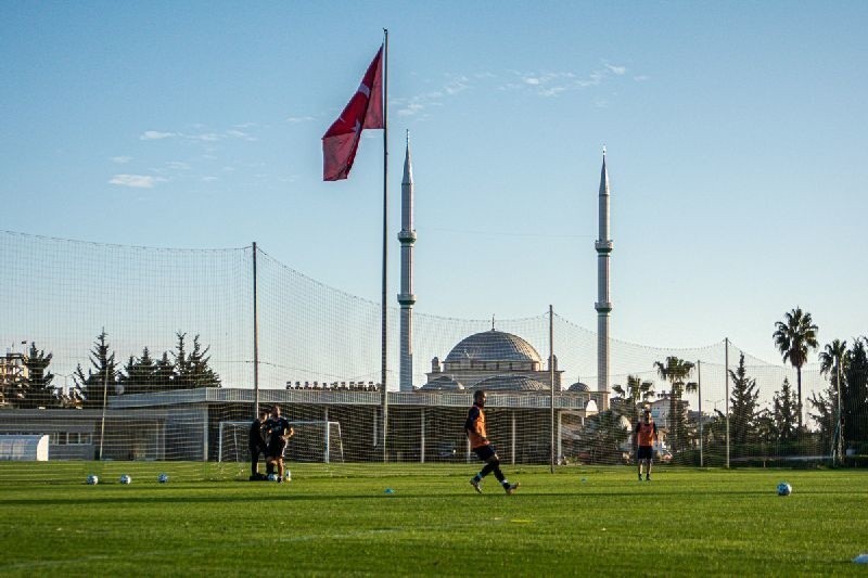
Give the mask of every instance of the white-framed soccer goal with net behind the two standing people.
[[[293, 462], [343, 462], [344, 441], [340, 422], [290, 422], [295, 434], [290, 438], [285, 457]], [[218, 460], [250, 460], [247, 437], [251, 422], [220, 422]]]

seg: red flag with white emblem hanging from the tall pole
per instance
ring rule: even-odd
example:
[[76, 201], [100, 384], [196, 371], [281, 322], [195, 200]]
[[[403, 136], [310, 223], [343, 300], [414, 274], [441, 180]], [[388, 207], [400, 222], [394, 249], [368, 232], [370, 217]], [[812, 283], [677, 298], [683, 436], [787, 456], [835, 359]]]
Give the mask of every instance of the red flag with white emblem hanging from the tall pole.
[[384, 128], [383, 47], [371, 61], [344, 112], [322, 136], [322, 180], [339, 181], [349, 176], [361, 131], [366, 128]]

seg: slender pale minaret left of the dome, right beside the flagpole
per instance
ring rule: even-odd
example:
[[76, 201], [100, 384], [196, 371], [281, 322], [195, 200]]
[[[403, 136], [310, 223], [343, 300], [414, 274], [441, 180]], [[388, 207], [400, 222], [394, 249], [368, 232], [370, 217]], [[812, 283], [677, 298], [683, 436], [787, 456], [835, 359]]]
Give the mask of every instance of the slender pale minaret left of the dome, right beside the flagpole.
[[413, 168], [410, 162], [410, 131], [407, 131], [407, 154], [404, 157], [404, 179], [400, 183], [400, 374], [401, 391], [413, 389]]

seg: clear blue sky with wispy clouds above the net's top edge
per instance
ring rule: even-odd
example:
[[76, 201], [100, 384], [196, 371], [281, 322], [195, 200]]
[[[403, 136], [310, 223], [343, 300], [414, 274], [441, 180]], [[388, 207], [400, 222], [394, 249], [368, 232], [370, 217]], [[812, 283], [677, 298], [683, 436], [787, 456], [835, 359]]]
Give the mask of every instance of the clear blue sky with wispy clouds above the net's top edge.
[[605, 145], [612, 335], [777, 362], [796, 305], [821, 343], [868, 333], [867, 25], [864, 2], [10, 0], [0, 229], [257, 241], [379, 300], [382, 132], [341, 182], [320, 138], [387, 27], [390, 298], [408, 129], [417, 310], [595, 330]]

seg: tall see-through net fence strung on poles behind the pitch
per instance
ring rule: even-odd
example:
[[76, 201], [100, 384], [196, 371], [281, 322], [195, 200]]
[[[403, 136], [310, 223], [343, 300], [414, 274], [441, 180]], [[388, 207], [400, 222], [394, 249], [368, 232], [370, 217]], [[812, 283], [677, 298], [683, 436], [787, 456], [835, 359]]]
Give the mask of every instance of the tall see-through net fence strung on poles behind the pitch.
[[[464, 435], [475, 389], [489, 393], [489, 438], [511, 463], [629, 462], [646, 407], [663, 461], [813, 463], [868, 453], [861, 342], [847, 344], [839, 381], [828, 363], [806, 364], [800, 377], [792, 367], [742, 358], [726, 339], [685, 349], [610, 339], [605, 389], [597, 334], [557, 313], [414, 313], [407, 387], [398, 383], [407, 362], [400, 310], [390, 304], [384, 398], [380, 304], [260, 249], [2, 232], [0, 267], [0, 459], [3, 440], [44, 435], [50, 460], [228, 464], [220, 467], [242, 476], [248, 433], [240, 424], [253, 421], [258, 401], [280, 404], [291, 422], [340, 432], [307, 427], [289, 459], [461, 463], [475, 460]], [[322, 447], [334, 435], [340, 461]], [[233, 460], [222, 454], [230, 444]], [[0, 478], [14, 475], [0, 468]]]

